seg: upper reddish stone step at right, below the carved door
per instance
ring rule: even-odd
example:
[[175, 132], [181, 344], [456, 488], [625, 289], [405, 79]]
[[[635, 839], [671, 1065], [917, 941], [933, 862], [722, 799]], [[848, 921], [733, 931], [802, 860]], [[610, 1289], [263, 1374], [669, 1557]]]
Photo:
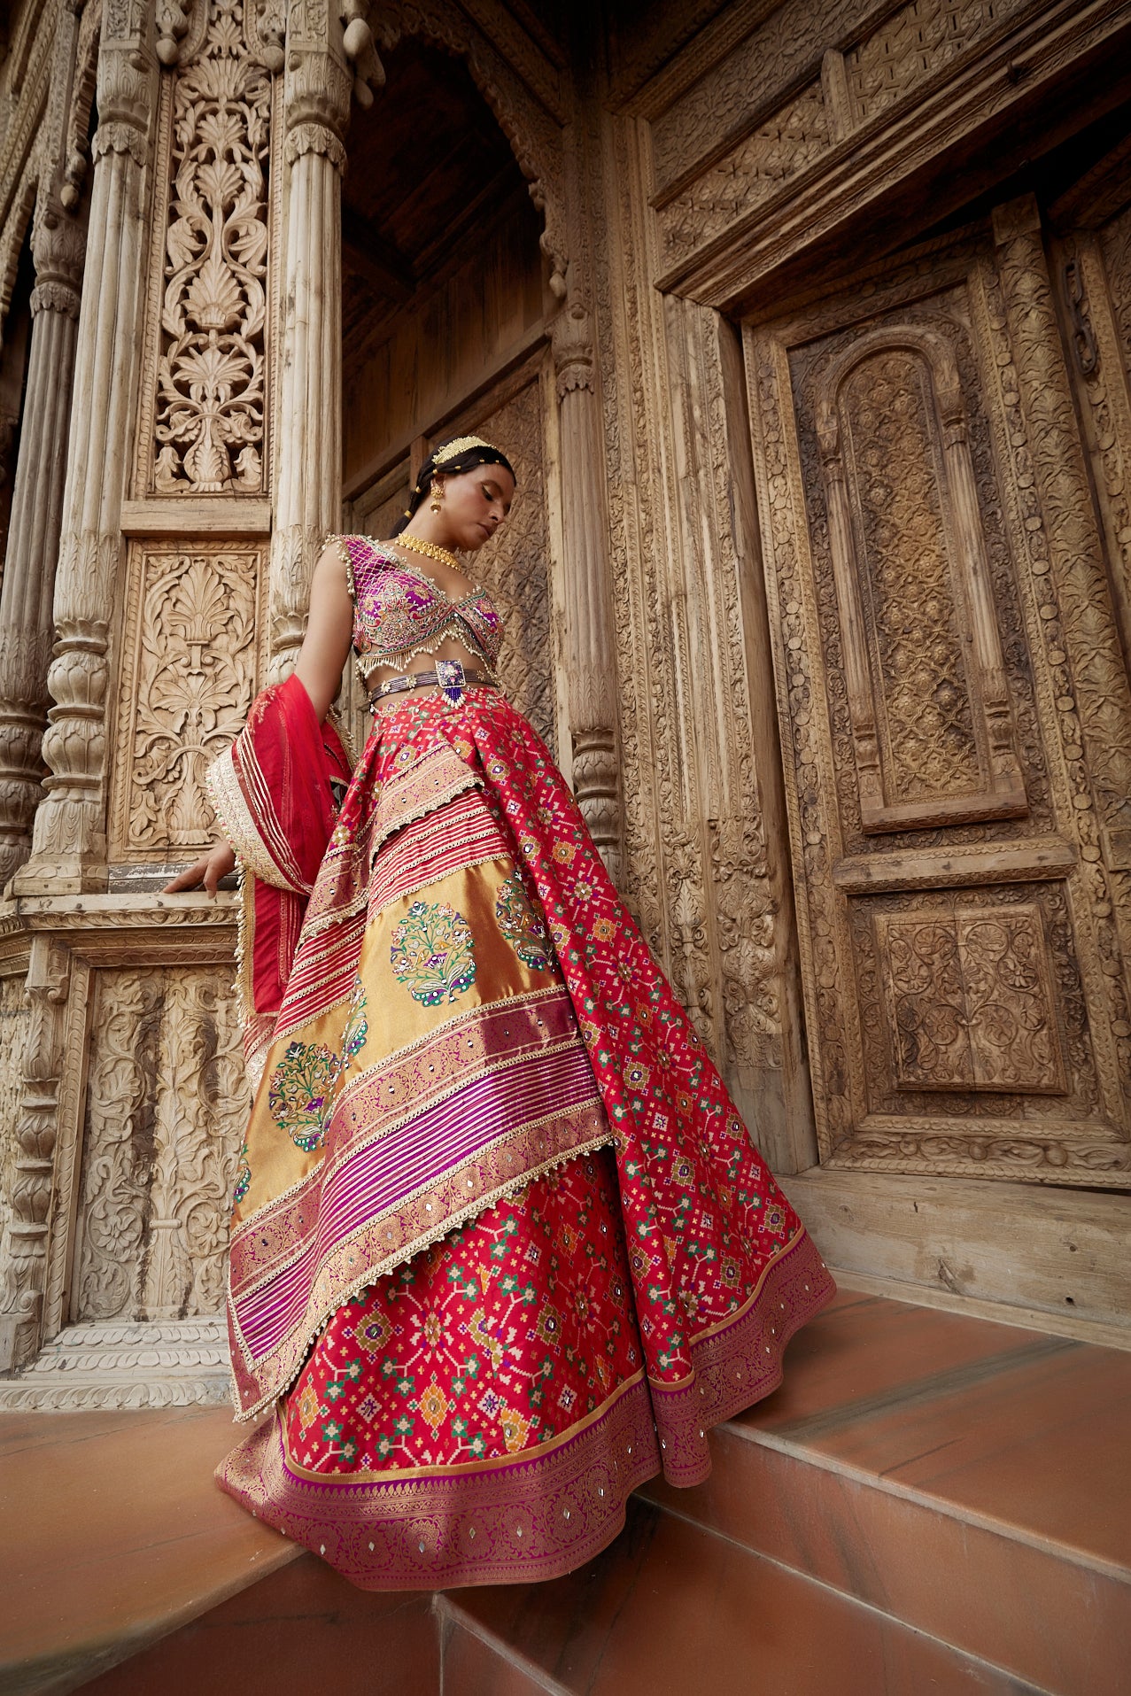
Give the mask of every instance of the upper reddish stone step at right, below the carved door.
[[841, 1291], [665, 1511], [1063, 1696], [1131, 1667], [1131, 1353]]

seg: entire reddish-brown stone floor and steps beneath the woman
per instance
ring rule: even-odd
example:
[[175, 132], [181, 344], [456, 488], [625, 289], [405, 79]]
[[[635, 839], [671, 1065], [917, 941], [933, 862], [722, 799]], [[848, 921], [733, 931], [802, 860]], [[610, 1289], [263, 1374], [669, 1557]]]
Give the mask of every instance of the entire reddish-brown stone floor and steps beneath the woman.
[[1131, 1355], [844, 1291], [705, 1484], [649, 1484], [553, 1584], [439, 1596], [354, 1591], [222, 1496], [226, 1409], [7, 1414], [0, 1691], [1114, 1696], [1129, 1411]]

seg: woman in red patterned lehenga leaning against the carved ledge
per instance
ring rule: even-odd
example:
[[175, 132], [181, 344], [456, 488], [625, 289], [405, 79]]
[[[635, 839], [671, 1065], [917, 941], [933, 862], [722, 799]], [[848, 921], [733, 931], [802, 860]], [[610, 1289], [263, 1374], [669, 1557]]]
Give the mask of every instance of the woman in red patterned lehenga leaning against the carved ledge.
[[[833, 1294], [495, 682], [475, 555], [514, 471], [460, 438], [392, 543], [331, 538], [295, 673], [214, 767], [258, 1091], [224, 1489], [371, 1589], [554, 1577], [710, 1469]], [[349, 646], [373, 731], [327, 721]]]

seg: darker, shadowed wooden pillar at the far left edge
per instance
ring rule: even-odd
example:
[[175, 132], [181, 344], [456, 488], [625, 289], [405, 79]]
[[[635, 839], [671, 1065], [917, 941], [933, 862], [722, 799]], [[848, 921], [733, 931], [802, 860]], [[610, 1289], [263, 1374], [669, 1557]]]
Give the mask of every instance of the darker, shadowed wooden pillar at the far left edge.
[[32, 236], [36, 288], [20, 456], [0, 589], [0, 889], [27, 858], [42, 794], [54, 563], [63, 516], [85, 232], [47, 198]]

